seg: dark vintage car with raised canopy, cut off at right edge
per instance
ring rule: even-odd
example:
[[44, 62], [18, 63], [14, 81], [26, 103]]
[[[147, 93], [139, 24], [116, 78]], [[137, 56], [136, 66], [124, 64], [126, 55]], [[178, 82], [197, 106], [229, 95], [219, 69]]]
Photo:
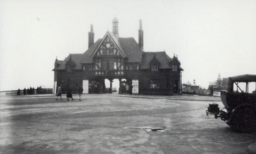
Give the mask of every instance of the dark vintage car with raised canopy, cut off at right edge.
[[209, 104], [206, 114], [214, 114], [236, 131], [256, 131], [256, 75], [239, 75], [223, 78], [221, 100], [218, 104]]

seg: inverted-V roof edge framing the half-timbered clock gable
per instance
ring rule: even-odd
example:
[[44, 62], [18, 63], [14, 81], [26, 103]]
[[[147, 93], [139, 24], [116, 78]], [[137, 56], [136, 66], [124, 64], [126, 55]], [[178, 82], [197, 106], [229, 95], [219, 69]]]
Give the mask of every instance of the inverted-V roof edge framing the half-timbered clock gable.
[[111, 33], [109, 31], [107, 31], [107, 33], [104, 35], [104, 37], [101, 39], [100, 44], [98, 45], [98, 47], [94, 50], [93, 54], [90, 56], [90, 58], [93, 58], [93, 56], [96, 54], [97, 50], [99, 49], [99, 47], [101, 46], [101, 44], [103, 43], [103, 41], [106, 39], [106, 37], [109, 36], [109, 38], [115, 43], [116, 47], [118, 48], [118, 50], [120, 51], [121, 55], [123, 56], [123, 58], [126, 58], [127, 55], [125, 54], [125, 52], [123, 51], [117, 37], [115, 36], [114, 33]]

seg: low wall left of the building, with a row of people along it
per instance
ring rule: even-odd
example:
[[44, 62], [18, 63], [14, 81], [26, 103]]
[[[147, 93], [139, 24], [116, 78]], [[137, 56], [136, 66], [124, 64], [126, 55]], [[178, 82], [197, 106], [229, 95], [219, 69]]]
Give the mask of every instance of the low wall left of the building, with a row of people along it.
[[[18, 95], [17, 93], [18, 90], [0, 91], [0, 96], [15, 96]], [[34, 94], [37, 94], [36, 89]], [[53, 88], [42, 88], [38, 94], [53, 94]], [[24, 95], [23, 90], [20, 90], [20, 95]]]

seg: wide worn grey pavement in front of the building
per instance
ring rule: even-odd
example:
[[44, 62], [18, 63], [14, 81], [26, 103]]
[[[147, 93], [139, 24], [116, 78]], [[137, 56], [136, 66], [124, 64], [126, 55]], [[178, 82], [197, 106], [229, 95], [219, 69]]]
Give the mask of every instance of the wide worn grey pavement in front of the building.
[[[52, 96], [1, 97], [0, 151], [241, 154], [256, 141], [256, 134], [235, 133], [220, 119], [207, 117], [208, 101], [153, 97], [86, 94], [82, 101], [77, 95], [74, 101], [56, 101]], [[165, 129], [151, 132], [139, 127]]]

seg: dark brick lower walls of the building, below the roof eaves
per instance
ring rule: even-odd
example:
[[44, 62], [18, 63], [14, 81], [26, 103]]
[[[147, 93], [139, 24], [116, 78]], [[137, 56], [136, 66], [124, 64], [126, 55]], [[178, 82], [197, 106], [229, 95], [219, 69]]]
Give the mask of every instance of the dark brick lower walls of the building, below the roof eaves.
[[[159, 69], [158, 71], [147, 70], [126, 70], [123, 75], [95, 75], [94, 71], [85, 70], [58, 70], [54, 71], [54, 81], [62, 85], [63, 93], [67, 92], [67, 86], [72, 84], [73, 94], [78, 93], [78, 87], [82, 86], [82, 80], [102, 81], [104, 79], [126, 79], [127, 81], [139, 80], [139, 94], [179, 94], [180, 72], [171, 69]], [[150, 80], [159, 81], [159, 87], [150, 87]], [[102, 83], [104, 84], [104, 83]], [[93, 93], [93, 91], [90, 91]]]

